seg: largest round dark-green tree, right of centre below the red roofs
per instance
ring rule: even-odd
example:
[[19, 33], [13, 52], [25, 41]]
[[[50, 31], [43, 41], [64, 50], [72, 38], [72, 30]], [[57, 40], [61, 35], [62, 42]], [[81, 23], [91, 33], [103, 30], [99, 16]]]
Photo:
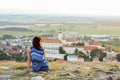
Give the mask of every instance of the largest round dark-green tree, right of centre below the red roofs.
[[98, 57], [99, 58], [99, 61], [103, 61], [103, 58], [106, 57], [106, 53], [102, 52], [102, 50], [100, 49], [93, 49], [91, 52], [90, 52], [90, 56], [92, 58], [95, 58], [95, 57]]

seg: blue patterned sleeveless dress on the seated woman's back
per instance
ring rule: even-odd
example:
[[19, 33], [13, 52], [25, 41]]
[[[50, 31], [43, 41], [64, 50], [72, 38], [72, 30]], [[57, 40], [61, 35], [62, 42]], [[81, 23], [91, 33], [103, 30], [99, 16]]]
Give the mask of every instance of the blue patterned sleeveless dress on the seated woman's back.
[[31, 47], [31, 60], [32, 60], [32, 69], [33, 71], [46, 71], [49, 70], [48, 63], [44, 59], [44, 49], [40, 50]]

